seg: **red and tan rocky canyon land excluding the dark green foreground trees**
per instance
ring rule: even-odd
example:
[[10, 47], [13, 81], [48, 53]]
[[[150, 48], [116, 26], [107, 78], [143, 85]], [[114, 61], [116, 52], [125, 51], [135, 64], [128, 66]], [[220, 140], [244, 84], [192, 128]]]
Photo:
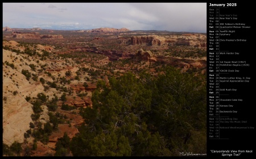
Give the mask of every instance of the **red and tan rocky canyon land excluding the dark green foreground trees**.
[[[78, 127], [84, 123], [79, 110], [93, 107], [91, 98], [98, 81], [108, 84], [112, 76], [125, 72], [139, 76], [146, 71], [158, 76], [164, 73], [161, 68], [165, 66], [205, 75], [206, 44], [205, 33], [4, 27], [3, 143], [10, 146], [18, 141], [23, 149], [32, 149], [35, 137], [24, 134], [39, 130], [40, 124], [44, 128], [52, 112], [59, 114], [58, 128], [48, 135], [47, 143], [38, 140], [37, 150], [31, 150], [30, 156], [53, 156], [55, 144], [65, 132], [70, 138], [79, 133]], [[40, 93], [47, 100], [40, 104], [40, 118], [32, 119]], [[51, 111], [53, 98], [57, 98], [57, 108]], [[23, 151], [21, 156], [25, 155]]]

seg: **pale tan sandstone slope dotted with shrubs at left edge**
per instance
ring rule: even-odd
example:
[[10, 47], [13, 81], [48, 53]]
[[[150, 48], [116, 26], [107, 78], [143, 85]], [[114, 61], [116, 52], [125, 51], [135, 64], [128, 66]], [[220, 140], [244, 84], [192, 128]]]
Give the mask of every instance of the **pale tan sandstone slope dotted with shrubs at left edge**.
[[[17, 58], [15, 62], [15, 57]], [[22, 59], [22, 60], [20, 60]], [[32, 104], [26, 101], [26, 96], [36, 97], [43, 92], [42, 84], [28, 81], [21, 72], [22, 69], [31, 71], [30, 66], [20, 66], [21, 63], [28, 63], [22, 55], [11, 51], [3, 50], [3, 62], [13, 63], [15, 68], [3, 66], [3, 142], [10, 145], [14, 141], [22, 143], [24, 133], [30, 129]], [[35, 64], [36, 62], [31, 61]], [[31, 83], [30, 83], [31, 82]]]

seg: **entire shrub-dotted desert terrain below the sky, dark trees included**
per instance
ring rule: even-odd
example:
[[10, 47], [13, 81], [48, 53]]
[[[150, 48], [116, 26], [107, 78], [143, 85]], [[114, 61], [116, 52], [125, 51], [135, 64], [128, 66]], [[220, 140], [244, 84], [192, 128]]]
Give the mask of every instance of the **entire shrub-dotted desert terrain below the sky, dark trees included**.
[[205, 35], [51, 33], [3, 32], [4, 156], [206, 153]]

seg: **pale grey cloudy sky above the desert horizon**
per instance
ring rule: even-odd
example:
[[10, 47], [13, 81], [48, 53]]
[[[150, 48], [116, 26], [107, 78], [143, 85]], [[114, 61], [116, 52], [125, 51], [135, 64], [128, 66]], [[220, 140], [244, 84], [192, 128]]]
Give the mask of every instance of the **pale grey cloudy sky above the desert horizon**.
[[3, 3], [3, 27], [207, 31], [207, 3]]

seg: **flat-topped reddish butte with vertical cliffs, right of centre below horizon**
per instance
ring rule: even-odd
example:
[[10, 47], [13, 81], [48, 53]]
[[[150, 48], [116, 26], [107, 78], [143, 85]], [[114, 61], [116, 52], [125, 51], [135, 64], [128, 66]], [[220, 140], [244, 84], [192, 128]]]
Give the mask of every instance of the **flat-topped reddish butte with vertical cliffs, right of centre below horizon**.
[[161, 45], [161, 41], [154, 36], [132, 36], [131, 37], [131, 45]]

